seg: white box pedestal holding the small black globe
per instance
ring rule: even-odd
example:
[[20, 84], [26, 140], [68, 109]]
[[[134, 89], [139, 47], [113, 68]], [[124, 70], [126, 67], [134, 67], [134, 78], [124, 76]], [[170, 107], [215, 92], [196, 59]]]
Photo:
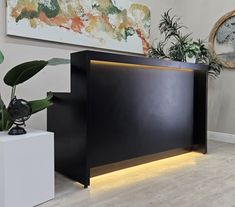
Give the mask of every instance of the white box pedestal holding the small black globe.
[[0, 206], [32, 207], [54, 198], [54, 134], [0, 132]]

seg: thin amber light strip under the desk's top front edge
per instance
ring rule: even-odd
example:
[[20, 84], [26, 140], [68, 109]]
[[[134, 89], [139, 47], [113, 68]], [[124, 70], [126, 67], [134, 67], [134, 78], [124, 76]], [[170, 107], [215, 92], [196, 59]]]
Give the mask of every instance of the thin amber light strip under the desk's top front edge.
[[155, 70], [176, 70], [180, 72], [193, 72], [189, 68], [176, 68], [168, 66], [153, 66], [153, 65], [141, 65], [141, 64], [131, 64], [131, 63], [119, 63], [111, 61], [100, 61], [100, 60], [91, 60], [91, 64], [95, 65], [104, 65], [104, 66], [116, 66], [116, 67], [129, 67], [129, 68], [141, 68], [141, 69], [155, 69]]

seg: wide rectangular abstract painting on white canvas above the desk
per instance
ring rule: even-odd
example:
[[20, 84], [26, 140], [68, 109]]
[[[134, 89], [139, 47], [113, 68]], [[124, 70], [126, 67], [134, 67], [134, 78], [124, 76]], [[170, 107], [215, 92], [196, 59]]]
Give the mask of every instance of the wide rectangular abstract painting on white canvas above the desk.
[[149, 47], [150, 9], [127, 0], [7, 0], [7, 34], [133, 53]]

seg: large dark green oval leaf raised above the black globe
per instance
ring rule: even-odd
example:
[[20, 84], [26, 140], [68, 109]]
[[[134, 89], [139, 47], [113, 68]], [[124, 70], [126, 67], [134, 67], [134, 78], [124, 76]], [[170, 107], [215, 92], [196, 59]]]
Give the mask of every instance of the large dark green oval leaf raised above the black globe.
[[48, 61], [35, 60], [17, 65], [8, 71], [4, 77], [4, 82], [9, 86], [16, 86], [36, 75], [47, 64]]

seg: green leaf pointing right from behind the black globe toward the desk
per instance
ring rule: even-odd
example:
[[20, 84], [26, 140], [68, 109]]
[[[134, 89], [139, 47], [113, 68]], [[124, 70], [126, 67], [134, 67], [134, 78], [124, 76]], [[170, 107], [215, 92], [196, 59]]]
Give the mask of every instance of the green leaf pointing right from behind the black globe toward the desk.
[[49, 106], [53, 105], [52, 98], [53, 94], [49, 92], [45, 99], [29, 101], [29, 104], [32, 107], [32, 114], [42, 111], [43, 109], [46, 109]]

